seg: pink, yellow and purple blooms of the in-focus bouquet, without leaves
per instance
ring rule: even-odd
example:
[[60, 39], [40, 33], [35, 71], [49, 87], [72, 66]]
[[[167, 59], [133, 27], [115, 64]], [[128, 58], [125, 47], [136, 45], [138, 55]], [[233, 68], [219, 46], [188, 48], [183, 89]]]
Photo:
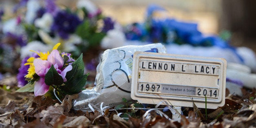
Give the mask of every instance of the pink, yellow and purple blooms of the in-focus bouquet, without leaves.
[[[57, 48], [59, 46], [60, 46], [60, 43], [57, 43], [53, 47], [53, 51], [51, 51], [51, 53], [49, 51], [46, 53], [33, 51], [34, 53], [37, 54], [37, 56], [29, 57], [26, 60], [26, 63], [24, 64], [24, 66], [29, 66], [29, 68], [27, 69], [28, 72], [24, 77], [28, 81], [35, 82], [34, 84], [35, 96], [44, 95], [49, 90], [49, 86], [53, 86], [53, 85], [47, 85], [44, 79], [46, 77], [46, 73], [48, 73], [51, 66], [53, 66], [57, 71], [57, 73], [62, 77], [63, 82], [67, 81], [66, 73], [72, 70], [71, 64], [75, 60], [71, 58], [71, 54], [69, 53], [60, 54], [60, 52], [57, 51]], [[63, 58], [65, 55], [68, 57], [68, 60], [66, 60], [66, 62], [64, 62], [64, 58]], [[24, 74], [22, 71], [23, 68], [25, 68], [24, 66], [20, 68], [20, 75]], [[37, 78], [35, 78], [36, 77], [35, 74], [38, 76]], [[19, 80], [19, 81], [23, 82], [22, 80]], [[23, 85], [23, 83], [21, 84]]]

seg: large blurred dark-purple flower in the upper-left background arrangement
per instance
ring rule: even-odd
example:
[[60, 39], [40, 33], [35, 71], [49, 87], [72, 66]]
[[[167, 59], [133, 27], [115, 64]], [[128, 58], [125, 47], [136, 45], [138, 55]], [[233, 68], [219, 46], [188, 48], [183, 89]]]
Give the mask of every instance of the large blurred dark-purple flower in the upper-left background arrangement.
[[69, 33], [74, 33], [75, 29], [82, 21], [72, 13], [67, 11], [59, 11], [54, 17], [52, 31], [56, 31], [61, 38], [68, 39]]

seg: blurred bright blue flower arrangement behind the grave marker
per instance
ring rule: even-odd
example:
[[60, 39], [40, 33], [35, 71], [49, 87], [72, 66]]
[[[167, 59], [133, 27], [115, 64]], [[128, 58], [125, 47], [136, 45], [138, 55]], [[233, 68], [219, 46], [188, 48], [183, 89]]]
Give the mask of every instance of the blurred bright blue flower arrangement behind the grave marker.
[[157, 5], [149, 6], [145, 22], [126, 26], [126, 39], [152, 43], [229, 47], [226, 41], [229, 40], [228, 38], [223, 40], [217, 35], [205, 36], [197, 29], [196, 23], [177, 21], [169, 18], [167, 13]]

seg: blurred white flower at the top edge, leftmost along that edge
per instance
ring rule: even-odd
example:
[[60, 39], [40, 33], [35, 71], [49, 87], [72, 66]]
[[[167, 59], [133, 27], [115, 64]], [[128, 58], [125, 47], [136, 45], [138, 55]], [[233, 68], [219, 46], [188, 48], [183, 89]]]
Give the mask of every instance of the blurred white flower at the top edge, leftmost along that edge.
[[26, 4], [26, 17], [25, 20], [26, 22], [32, 24], [35, 17], [36, 17], [36, 12], [38, 9], [40, 9], [40, 1], [39, 0], [29, 0]]

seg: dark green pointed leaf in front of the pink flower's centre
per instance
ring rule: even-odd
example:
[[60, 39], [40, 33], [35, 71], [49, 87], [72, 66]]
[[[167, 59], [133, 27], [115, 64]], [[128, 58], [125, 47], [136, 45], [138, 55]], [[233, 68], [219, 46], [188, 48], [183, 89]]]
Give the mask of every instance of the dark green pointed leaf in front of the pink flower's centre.
[[44, 77], [44, 82], [46, 85], [49, 85], [49, 86], [51, 85], [60, 86], [63, 84], [63, 78], [62, 76], [59, 75], [59, 73], [54, 68], [54, 66], [51, 65], [51, 68], [49, 69], [49, 71], [46, 73]]

